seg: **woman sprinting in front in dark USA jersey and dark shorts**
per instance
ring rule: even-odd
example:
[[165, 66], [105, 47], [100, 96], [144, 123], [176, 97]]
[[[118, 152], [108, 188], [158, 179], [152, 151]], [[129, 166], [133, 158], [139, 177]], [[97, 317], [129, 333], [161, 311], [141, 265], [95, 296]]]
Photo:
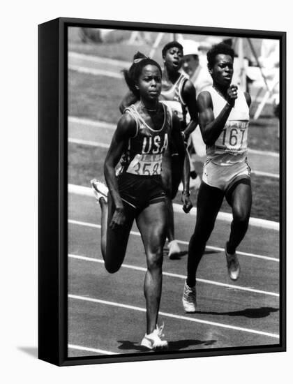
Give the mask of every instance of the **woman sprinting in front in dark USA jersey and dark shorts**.
[[[140, 230], [147, 256], [147, 332], [141, 344], [154, 350], [167, 348], [167, 341], [161, 339], [163, 329], [157, 325], [167, 230], [162, 160], [171, 139], [177, 143], [181, 168], [186, 150], [179, 120], [159, 102], [162, 72], [158, 63], [137, 54], [124, 77], [137, 101], [124, 110], [105, 158], [109, 193], [100, 182], [92, 180], [91, 184], [102, 209], [101, 249], [108, 272], [121, 267], [134, 220]], [[188, 195], [183, 203], [186, 210], [190, 209]]]

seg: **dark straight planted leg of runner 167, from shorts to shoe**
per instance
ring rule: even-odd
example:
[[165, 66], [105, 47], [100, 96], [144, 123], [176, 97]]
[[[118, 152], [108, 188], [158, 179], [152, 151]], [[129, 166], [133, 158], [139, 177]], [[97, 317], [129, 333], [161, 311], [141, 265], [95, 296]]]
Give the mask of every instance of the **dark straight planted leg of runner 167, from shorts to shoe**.
[[206, 242], [215, 226], [216, 217], [222, 205], [223, 198], [223, 191], [202, 182], [197, 196], [195, 230], [188, 246], [186, 282], [190, 287], [195, 286], [197, 267], [204, 254]]

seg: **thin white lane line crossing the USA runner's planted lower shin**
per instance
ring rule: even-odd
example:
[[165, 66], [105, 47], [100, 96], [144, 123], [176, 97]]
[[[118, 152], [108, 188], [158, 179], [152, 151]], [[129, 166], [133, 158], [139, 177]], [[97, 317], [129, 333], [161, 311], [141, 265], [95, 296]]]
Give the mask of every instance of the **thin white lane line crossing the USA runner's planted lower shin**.
[[[140, 311], [140, 312], [146, 312], [146, 309], [140, 308], [140, 307], [134, 307], [133, 305], [120, 304], [117, 302], [108, 302], [106, 300], [98, 300], [98, 299], [93, 299], [91, 297], [83, 297], [83, 296], [79, 296], [79, 295], [68, 295], [68, 297], [70, 299], [75, 299], [75, 300], [82, 300], [82, 301], [86, 301], [86, 302], [95, 302], [98, 304], [106, 304], [106, 305], [110, 305], [113, 307], [120, 307], [120, 308], [125, 308], [125, 309], [133, 309], [135, 311]], [[249, 328], [242, 328], [242, 327], [236, 327], [234, 325], [226, 325], [226, 324], [222, 324], [222, 323], [216, 323], [213, 321], [200, 320], [198, 318], [191, 318], [188, 316], [179, 316], [179, 315], [175, 315], [173, 313], [166, 313], [166, 312], [161, 312], [161, 311], [159, 312], [159, 315], [169, 317], [169, 318], [176, 318], [178, 320], [187, 320], [187, 321], [191, 321], [193, 323], [201, 323], [201, 324], [213, 325], [215, 327], [227, 328], [228, 330], [236, 330], [236, 331], [241, 331], [241, 332], [249, 332], [249, 333], [253, 333], [253, 334], [261, 334], [262, 336], [274, 337], [276, 339], [279, 339], [278, 334], [273, 334], [273, 333], [269, 333], [269, 332], [250, 330]]]

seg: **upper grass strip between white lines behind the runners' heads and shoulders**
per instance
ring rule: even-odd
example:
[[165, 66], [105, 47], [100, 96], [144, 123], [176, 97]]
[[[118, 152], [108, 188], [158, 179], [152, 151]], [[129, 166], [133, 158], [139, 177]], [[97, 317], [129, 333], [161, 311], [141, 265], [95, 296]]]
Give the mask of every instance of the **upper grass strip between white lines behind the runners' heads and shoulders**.
[[[116, 124], [121, 116], [118, 106], [127, 91], [122, 79], [69, 71], [68, 114]], [[255, 108], [252, 105], [250, 115]], [[271, 105], [266, 105], [262, 117], [250, 121], [250, 149], [278, 152], [278, 120], [270, 112]]]

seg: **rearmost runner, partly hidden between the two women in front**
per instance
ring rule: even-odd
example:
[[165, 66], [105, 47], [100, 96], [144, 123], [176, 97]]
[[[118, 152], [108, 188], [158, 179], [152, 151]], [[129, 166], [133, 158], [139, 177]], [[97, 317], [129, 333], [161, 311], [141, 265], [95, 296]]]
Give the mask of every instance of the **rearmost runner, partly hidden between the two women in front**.
[[[181, 68], [183, 57], [183, 47], [178, 41], [171, 41], [167, 43], [162, 50], [163, 58], [163, 77], [162, 77], [162, 91], [160, 93], [160, 100], [172, 109], [172, 112], [179, 118], [180, 129], [184, 141], [188, 142], [191, 132], [197, 126], [197, 105], [195, 87], [192, 82], [188, 80], [186, 75], [183, 75], [179, 70]], [[132, 91], [128, 92], [119, 105], [121, 112], [128, 107], [128, 105], [135, 103], [137, 98]], [[188, 119], [187, 120], [187, 115]], [[188, 122], [187, 122], [188, 121]], [[182, 168], [178, 161], [178, 151], [176, 149], [176, 142], [170, 143], [170, 159], [165, 157], [163, 159], [163, 185], [166, 192], [167, 204], [167, 239], [169, 258], [178, 258], [180, 253], [179, 244], [176, 242], [174, 235], [174, 213], [172, 200], [176, 197], [179, 184], [182, 179]], [[190, 169], [189, 158], [186, 158], [186, 167]], [[186, 171], [187, 172], [187, 171]], [[195, 173], [195, 171], [193, 172]], [[189, 190], [189, 184], [188, 184]], [[186, 194], [183, 188], [183, 194]]]

